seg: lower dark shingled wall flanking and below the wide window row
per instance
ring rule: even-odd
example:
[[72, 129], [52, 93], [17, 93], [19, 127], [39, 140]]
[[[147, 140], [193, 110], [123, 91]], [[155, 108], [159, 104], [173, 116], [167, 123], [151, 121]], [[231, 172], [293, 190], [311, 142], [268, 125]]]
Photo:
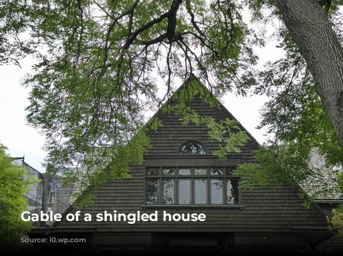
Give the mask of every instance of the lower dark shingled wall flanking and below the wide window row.
[[[152, 213], [143, 210], [144, 167], [132, 170], [132, 178], [110, 181], [97, 189], [95, 205], [83, 213], [117, 210], [117, 213]], [[67, 222], [59, 227], [96, 227], [98, 231], [144, 232], [291, 232], [294, 226], [326, 227], [327, 222], [316, 209], [305, 209], [297, 190], [287, 186], [280, 189], [257, 188], [242, 193], [244, 209], [164, 209], [168, 213], [205, 213], [205, 222]], [[160, 211], [161, 209], [159, 209]], [[160, 211], [161, 212], [161, 211]]]

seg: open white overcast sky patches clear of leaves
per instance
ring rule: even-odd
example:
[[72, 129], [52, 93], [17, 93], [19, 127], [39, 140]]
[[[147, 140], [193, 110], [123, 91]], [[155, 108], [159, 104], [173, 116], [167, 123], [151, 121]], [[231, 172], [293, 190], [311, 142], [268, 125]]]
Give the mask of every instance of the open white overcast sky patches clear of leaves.
[[[260, 65], [268, 60], [276, 60], [283, 51], [270, 42], [266, 47], [258, 49]], [[29, 89], [21, 86], [25, 73], [29, 73], [34, 64], [32, 58], [21, 61], [21, 68], [8, 65], [0, 69], [0, 143], [8, 147], [8, 153], [13, 157], [25, 156], [25, 162], [39, 172], [45, 172], [41, 163], [46, 152], [43, 151], [45, 138], [34, 128], [27, 126], [25, 106], [28, 105]], [[222, 104], [241, 122], [250, 134], [263, 143], [264, 130], [257, 130], [259, 124], [259, 109], [266, 102], [265, 96], [236, 97], [228, 94], [223, 97]]]

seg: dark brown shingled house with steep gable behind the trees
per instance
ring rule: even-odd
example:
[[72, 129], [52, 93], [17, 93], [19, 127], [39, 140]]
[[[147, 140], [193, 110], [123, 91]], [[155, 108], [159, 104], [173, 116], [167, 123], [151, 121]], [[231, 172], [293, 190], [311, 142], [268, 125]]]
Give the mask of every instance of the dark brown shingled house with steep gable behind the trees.
[[[200, 115], [217, 120], [235, 118], [224, 106], [210, 107], [199, 95], [191, 106]], [[51, 228], [33, 230], [33, 240], [49, 238], [37, 242], [36, 248], [295, 252], [315, 248], [332, 236], [327, 213], [316, 203], [309, 209], [303, 207], [298, 187], [239, 189], [239, 177], [233, 176], [233, 170], [239, 163], [254, 161], [253, 152], [259, 147], [248, 131], [250, 141], [241, 152], [228, 154], [223, 161], [211, 154], [220, 143], [210, 139], [205, 126], [182, 126], [179, 116], [161, 110], [155, 116], [164, 126], [149, 133], [152, 148], [144, 155], [143, 165], [132, 166], [132, 178], [97, 187], [94, 205], [82, 210], [78, 222], [65, 219], [67, 213], [76, 211], [70, 208]], [[158, 221], [95, 221], [97, 213], [104, 211], [158, 211]], [[171, 215], [204, 213], [206, 220], [164, 222], [163, 211]], [[93, 221], [84, 221], [84, 213], [91, 213]]]

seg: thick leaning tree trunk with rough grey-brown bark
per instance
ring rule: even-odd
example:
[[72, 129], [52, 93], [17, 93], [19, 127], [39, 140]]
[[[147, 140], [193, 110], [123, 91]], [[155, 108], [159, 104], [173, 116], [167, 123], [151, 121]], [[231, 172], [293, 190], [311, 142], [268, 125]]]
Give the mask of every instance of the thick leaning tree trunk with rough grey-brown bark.
[[343, 47], [318, 0], [276, 0], [343, 147]]

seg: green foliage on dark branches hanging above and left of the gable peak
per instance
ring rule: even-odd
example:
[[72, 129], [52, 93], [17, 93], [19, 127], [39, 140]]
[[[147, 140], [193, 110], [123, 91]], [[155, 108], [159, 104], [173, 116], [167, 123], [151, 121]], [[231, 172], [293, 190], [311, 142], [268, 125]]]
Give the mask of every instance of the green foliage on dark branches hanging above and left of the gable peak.
[[[126, 154], [145, 112], [167, 102], [180, 80], [196, 75], [215, 95], [245, 95], [257, 62], [252, 46], [263, 44], [244, 23], [241, 1], [6, 0], [0, 6], [0, 63], [36, 58], [23, 82], [31, 89], [27, 121], [46, 136], [46, 165], [64, 175], [64, 184], [81, 183], [94, 169], [127, 176], [111, 162]], [[154, 72], [165, 80], [162, 98]], [[215, 152], [222, 157], [246, 141], [235, 132], [224, 139], [211, 118], [201, 122], [228, 143]], [[146, 145], [146, 139], [134, 143], [134, 162]], [[82, 168], [86, 174], [78, 175]]]

